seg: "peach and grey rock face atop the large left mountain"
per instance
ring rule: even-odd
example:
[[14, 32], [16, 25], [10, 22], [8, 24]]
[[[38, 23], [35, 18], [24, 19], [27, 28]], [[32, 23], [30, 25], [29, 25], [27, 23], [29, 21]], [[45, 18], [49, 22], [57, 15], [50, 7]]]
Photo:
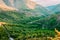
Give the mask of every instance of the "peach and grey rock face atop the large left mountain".
[[15, 10], [20, 8], [34, 9], [36, 3], [31, 0], [0, 0], [0, 8]]

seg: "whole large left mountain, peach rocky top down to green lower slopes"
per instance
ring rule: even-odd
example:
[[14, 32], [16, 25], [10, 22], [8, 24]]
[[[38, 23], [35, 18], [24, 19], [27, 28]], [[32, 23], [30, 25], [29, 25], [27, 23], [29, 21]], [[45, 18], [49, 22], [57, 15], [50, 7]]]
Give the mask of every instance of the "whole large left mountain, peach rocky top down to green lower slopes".
[[31, 0], [0, 0], [0, 3], [3, 9], [5, 7], [5, 10], [11, 10], [11, 8], [18, 9], [18, 11], [0, 10], [0, 21], [26, 23], [53, 14], [52, 11]]

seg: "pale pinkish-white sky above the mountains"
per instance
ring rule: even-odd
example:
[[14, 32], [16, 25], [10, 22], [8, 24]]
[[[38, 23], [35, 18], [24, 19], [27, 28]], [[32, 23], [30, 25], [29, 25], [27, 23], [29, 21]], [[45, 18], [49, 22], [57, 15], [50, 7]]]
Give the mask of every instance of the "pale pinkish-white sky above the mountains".
[[44, 7], [60, 4], [60, 0], [32, 0], [35, 1], [37, 4], [40, 4]]

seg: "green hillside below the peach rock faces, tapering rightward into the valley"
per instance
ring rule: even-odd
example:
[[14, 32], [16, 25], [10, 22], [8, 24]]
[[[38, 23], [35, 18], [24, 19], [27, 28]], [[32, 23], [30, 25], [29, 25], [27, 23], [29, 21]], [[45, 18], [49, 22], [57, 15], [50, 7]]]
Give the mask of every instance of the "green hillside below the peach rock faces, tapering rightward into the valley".
[[[34, 13], [35, 12], [35, 13]], [[40, 15], [37, 10], [22, 9], [20, 11], [3, 11], [0, 10], [0, 21], [8, 23], [22, 23], [26, 24], [28, 22], [38, 20], [45, 15]], [[48, 12], [47, 12], [48, 13]]]

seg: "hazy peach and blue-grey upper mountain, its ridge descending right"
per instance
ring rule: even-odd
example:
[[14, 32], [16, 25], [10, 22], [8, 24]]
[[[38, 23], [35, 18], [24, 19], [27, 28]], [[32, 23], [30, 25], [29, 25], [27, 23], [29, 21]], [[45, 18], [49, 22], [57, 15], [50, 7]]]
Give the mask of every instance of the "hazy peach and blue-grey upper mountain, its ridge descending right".
[[20, 12], [24, 10], [27, 15], [47, 16], [53, 14], [52, 11], [47, 10], [31, 0], [0, 0], [0, 3], [3, 6], [2, 8], [10, 10], [18, 9]]

